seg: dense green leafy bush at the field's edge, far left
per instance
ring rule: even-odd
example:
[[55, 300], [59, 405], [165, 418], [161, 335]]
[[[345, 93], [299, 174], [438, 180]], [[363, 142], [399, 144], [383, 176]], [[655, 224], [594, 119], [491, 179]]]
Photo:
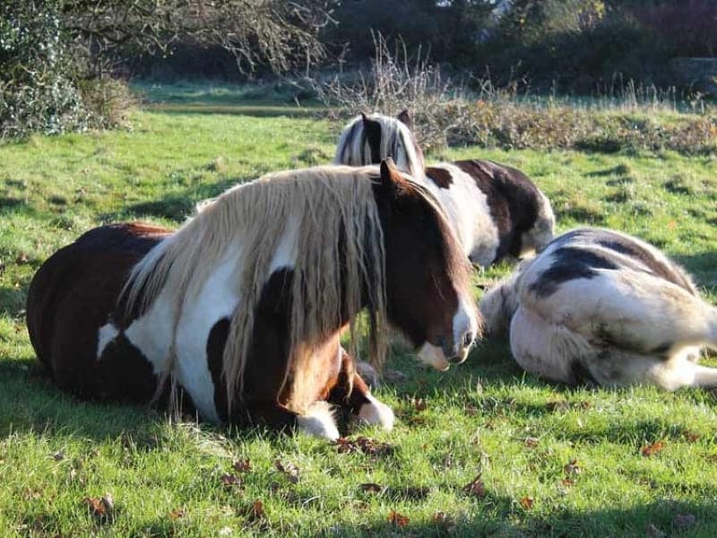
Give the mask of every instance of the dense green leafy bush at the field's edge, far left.
[[0, 139], [121, 124], [123, 82], [87, 79], [53, 0], [0, 4]]

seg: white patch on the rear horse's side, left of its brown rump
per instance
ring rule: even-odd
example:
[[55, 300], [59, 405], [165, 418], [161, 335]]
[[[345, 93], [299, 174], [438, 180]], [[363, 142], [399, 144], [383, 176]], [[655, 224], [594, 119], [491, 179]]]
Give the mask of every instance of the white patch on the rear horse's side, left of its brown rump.
[[428, 189], [443, 205], [463, 253], [475, 264], [486, 267], [496, 259], [500, 242], [496, 223], [490, 215], [488, 197], [476, 180], [457, 166], [442, 162], [433, 168], [445, 169], [453, 180], [450, 188], [441, 188], [431, 179]]

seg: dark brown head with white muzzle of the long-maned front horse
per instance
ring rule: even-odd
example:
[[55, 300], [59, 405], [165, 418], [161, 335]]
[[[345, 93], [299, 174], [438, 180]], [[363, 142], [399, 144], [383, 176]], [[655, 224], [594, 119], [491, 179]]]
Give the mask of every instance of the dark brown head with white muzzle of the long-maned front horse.
[[435, 200], [393, 166], [381, 163], [376, 203], [384, 228], [386, 313], [436, 369], [466, 359], [480, 336], [470, 267]]

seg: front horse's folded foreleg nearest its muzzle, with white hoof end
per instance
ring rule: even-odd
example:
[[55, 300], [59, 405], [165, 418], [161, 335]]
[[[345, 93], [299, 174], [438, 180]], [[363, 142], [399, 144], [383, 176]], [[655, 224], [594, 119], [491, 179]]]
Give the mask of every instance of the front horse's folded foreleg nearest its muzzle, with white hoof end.
[[392, 430], [395, 417], [391, 408], [379, 402], [358, 375], [354, 360], [341, 348], [341, 373], [339, 383], [333, 387], [328, 401], [342, 408], [348, 408], [352, 416], [367, 424], [378, 424], [384, 430]]

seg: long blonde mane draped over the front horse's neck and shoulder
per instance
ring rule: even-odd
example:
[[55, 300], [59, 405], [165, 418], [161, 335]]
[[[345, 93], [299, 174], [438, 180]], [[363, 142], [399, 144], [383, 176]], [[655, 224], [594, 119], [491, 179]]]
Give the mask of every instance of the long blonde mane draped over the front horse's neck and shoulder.
[[[223, 376], [232, 401], [243, 393], [255, 310], [272, 260], [287, 233], [296, 237], [290, 292], [290, 405], [300, 412], [303, 383], [310, 386], [312, 352], [336, 332], [344, 313], [355, 313], [367, 292], [370, 360], [380, 367], [386, 350], [385, 253], [372, 191], [377, 167], [290, 170], [232, 187], [198, 206], [193, 219], [154, 247], [134, 267], [123, 291], [125, 311], [146, 311], [162, 291], [174, 301], [172, 346], [165, 371], [174, 369], [174, 343], [184, 308], [203, 290], [218, 265], [233, 267], [238, 308], [230, 320]], [[289, 230], [289, 227], [291, 230]], [[340, 240], [341, 238], [341, 240]], [[232, 253], [241, 254], [231, 259]], [[345, 314], [344, 314], [345, 315]], [[350, 321], [351, 350], [356, 329]], [[283, 388], [283, 387], [282, 387]], [[308, 402], [310, 403], [310, 402]]]

